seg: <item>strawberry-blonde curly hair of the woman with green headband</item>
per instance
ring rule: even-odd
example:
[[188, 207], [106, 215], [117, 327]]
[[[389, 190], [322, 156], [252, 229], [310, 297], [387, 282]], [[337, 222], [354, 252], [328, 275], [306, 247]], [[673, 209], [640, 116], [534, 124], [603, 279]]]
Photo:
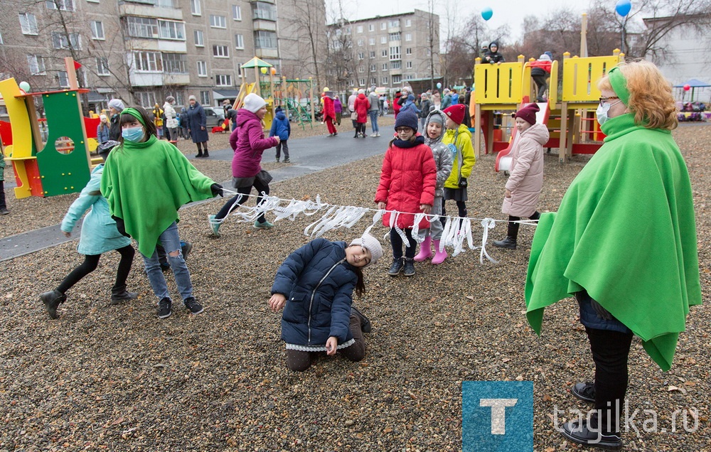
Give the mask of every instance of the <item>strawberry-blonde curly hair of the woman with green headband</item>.
[[[618, 68], [627, 82], [627, 108], [634, 114], [635, 124], [648, 129], [676, 129], [679, 120], [671, 84], [659, 68], [646, 60], [626, 61]], [[597, 82], [597, 87], [614, 91], [607, 75]]]

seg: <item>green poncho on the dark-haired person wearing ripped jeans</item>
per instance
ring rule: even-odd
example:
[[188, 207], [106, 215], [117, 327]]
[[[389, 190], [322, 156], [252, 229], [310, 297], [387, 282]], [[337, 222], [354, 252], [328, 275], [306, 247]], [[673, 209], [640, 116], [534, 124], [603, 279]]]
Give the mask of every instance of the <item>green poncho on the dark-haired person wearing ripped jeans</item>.
[[168, 141], [151, 136], [144, 143], [124, 141], [106, 159], [101, 193], [111, 215], [122, 218], [144, 256], [151, 256], [158, 237], [173, 221], [178, 208], [212, 198], [203, 175]]

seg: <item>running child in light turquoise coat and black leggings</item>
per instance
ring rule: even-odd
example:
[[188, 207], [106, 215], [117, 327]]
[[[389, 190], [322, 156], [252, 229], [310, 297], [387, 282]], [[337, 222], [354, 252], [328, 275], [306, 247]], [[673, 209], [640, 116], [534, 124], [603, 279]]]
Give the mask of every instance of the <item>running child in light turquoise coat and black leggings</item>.
[[[117, 144], [119, 144], [118, 141], [106, 141], [100, 144], [99, 155], [106, 160], [111, 149]], [[89, 183], [82, 189], [79, 198], [70, 205], [64, 220], [62, 220], [63, 234], [71, 237], [77, 220], [89, 210], [82, 224], [82, 235], [79, 247], [77, 247], [77, 251], [84, 254], [84, 262], [65, 276], [56, 289], [40, 294], [40, 299], [50, 318], [58, 318], [57, 308], [67, 300], [67, 291], [96, 269], [102, 254], [114, 249], [121, 254], [121, 260], [116, 272], [116, 283], [111, 288], [111, 304], [133, 300], [138, 296], [137, 293], [126, 290], [126, 279], [131, 270], [135, 251], [131, 246], [131, 239], [124, 237], [117, 230], [116, 222], [109, 214], [109, 204], [99, 191], [103, 171], [103, 163], [94, 168]]]

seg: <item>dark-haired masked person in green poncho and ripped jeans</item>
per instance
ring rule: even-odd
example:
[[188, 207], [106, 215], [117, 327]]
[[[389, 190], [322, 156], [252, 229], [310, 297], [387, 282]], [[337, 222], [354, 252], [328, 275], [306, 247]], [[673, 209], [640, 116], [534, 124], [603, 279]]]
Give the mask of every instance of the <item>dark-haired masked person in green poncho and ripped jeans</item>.
[[156, 139], [156, 126], [141, 107], [124, 109], [120, 122], [122, 144], [107, 158], [101, 192], [119, 232], [139, 244], [146, 274], [159, 299], [158, 317], [168, 318], [173, 307], [156, 252], [158, 242], [168, 253], [183, 305], [199, 314], [203, 306], [193, 296], [178, 237], [178, 208], [223, 195], [222, 186], [196, 170], [176, 146]]

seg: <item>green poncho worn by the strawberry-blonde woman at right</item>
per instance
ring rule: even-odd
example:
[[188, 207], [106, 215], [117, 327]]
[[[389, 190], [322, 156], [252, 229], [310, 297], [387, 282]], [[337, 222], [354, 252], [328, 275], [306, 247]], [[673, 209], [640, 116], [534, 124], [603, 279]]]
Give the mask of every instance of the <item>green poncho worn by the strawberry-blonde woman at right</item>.
[[691, 183], [670, 131], [609, 119], [605, 144], [544, 213], [525, 298], [540, 335], [543, 308], [583, 288], [669, 370], [689, 306], [701, 303]]

